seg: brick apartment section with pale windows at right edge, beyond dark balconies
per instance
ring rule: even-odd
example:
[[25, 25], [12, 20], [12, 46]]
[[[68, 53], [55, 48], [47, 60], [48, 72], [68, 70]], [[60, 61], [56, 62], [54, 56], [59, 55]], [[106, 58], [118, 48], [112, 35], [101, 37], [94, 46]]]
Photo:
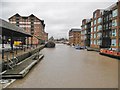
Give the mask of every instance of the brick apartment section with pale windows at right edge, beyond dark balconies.
[[112, 10], [111, 48], [120, 49], [120, 1], [109, 8]]

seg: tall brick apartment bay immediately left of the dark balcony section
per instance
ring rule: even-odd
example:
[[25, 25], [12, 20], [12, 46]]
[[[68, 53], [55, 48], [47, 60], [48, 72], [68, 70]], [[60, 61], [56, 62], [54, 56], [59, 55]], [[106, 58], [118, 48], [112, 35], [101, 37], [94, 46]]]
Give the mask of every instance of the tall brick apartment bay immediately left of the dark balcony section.
[[104, 10], [97, 9], [93, 12], [91, 20], [91, 48], [99, 49], [102, 44], [102, 15]]

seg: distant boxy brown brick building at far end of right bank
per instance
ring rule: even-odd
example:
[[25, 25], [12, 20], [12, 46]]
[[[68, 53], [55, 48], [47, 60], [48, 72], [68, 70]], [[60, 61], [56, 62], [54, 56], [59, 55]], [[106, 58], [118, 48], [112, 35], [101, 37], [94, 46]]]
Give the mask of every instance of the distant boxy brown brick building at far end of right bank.
[[71, 29], [69, 31], [69, 44], [80, 45], [81, 44], [81, 29]]

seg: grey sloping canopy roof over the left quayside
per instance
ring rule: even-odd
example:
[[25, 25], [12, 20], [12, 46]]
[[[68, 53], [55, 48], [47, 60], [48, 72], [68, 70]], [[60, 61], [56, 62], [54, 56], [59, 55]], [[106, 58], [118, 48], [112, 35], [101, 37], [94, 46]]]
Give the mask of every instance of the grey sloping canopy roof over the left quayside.
[[23, 28], [2, 19], [0, 19], [0, 30], [2, 31], [3, 36], [32, 37], [32, 35], [25, 32]]

